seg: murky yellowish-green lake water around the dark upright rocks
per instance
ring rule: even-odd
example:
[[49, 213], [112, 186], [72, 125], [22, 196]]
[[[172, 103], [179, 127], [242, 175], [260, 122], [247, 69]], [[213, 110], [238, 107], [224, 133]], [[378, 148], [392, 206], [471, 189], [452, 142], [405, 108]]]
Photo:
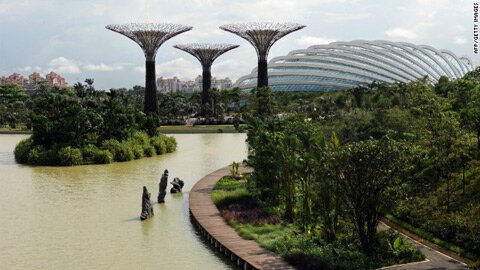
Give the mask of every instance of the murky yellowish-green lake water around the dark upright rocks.
[[[0, 135], [0, 269], [230, 269], [194, 230], [188, 192], [246, 158], [245, 134], [182, 134], [175, 153], [78, 167], [18, 165], [24, 135]], [[183, 194], [156, 203], [164, 169]], [[155, 216], [140, 222], [142, 187]], [[168, 190], [170, 189], [170, 185]]]

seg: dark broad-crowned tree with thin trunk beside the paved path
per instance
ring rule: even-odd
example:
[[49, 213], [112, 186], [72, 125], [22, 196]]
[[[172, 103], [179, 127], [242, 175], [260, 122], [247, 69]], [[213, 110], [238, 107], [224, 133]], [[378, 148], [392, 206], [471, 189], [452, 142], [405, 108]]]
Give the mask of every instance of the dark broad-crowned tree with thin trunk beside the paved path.
[[374, 253], [378, 222], [395, 202], [406, 161], [405, 147], [388, 138], [344, 145], [332, 155], [340, 196], [366, 254]]

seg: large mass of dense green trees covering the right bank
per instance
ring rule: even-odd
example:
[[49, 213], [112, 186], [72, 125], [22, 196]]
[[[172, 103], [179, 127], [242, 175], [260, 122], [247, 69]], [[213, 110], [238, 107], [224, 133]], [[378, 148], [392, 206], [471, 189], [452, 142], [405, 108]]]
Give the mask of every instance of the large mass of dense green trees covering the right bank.
[[435, 85], [276, 92], [273, 117], [248, 119], [251, 192], [319, 247], [348, 236], [378, 258], [377, 225], [393, 213], [476, 259], [479, 93], [479, 70]]

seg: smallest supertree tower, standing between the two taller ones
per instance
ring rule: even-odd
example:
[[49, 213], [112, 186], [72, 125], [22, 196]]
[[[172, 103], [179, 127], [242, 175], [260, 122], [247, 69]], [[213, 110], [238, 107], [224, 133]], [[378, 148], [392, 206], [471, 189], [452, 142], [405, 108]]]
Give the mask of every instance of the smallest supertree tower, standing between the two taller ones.
[[175, 45], [173, 46], [177, 49], [182, 51], [186, 51], [187, 53], [195, 56], [198, 61], [202, 64], [202, 116], [209, 116], [211, 112], [211, 104], [208, 106], [207, 104], [210, 103], [210, 88], [212, 86], [211, 78], [211, 67], [213, 61], [217, 59], [223, 53], [235, 49], [238, 45], [232, 44], [185, 44], [185, 45]]

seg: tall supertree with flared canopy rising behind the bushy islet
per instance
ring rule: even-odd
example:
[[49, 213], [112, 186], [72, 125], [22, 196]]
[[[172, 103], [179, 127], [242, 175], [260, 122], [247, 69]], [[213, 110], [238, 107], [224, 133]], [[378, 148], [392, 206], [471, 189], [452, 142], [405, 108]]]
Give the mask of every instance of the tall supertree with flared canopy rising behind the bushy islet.
[[168, 39], [192, 29], [190, 26], [171, 23], [111, 24], [107, 29], [135, 41], [145, 54], [145, 114], [158, 113], [155, 56], [158, 48]]

